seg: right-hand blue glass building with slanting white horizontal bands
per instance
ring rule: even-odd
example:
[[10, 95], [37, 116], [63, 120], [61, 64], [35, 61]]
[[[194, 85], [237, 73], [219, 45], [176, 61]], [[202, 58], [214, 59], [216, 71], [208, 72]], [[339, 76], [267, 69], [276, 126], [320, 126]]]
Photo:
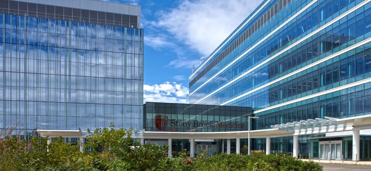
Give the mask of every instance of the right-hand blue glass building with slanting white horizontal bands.
[[[371, 114], [370, 23], [370, 0], [264, 0], [190, 75], [189, 101], [252, 107], [255, 130]], [[299, 153], [324, 136], [299, 136]], [[264, 143], [254, 139], [252, 150]], [[271, 152], [292, 150], [292, 137], [270, 143]]]

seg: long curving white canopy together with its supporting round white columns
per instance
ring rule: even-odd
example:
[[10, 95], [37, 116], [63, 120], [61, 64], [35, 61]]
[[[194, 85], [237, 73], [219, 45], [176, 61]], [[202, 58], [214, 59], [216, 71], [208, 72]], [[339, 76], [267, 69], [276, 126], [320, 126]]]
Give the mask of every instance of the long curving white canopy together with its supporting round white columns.
[[[371, 129], [371, 114], [361, 115], [349, 118], [331, 118], [325, 117], [302, 120], [299, 122], [272, 125], [269, 129], [250, 131], [251, 138], [266, 138], [266, 154], [270, 154], [271, 137], [288, 137], [293, 136], [293, 156], [298, 157], [298, 136], [309, 134], [333, 133], [340, 131], [353, 131], [353, 155], [352, 160], [359, 160], [359, 130]], [[49, 137], [69, 137], [80, 138], [82, 141], [86, 136], [93, 132], [86, 130], [37, 130], [43, 136]], [[240, 138], [247, 138], [248, 131], [229, 131], [229, 132], [163, 132], [163, 131], [145, 131], [134, 130], [132, 138], [144, 139], [168, 139], [169, 156], [171, 155], [172, 139], [189, 139], [190, 154], [194, 157], [194, 140], [195, 139], [227, 139], [227, 153], [230, 153], [230, 140], [236, 139], [236, 152], [240, 153]], [[50, 143], [50, 140], [48, 140]], [[82, 150], [83, 147], [80, 147]], [[357, 156], [357, 157], [356, 157]]]

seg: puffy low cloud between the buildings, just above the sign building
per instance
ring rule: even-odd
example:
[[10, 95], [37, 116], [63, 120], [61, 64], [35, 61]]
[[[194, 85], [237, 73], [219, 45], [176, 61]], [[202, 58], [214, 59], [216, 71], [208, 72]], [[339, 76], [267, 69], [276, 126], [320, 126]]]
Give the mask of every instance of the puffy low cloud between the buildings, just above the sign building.
[[189, 89], [176, 82], [144, 84], [144, 102], [188, 103]]

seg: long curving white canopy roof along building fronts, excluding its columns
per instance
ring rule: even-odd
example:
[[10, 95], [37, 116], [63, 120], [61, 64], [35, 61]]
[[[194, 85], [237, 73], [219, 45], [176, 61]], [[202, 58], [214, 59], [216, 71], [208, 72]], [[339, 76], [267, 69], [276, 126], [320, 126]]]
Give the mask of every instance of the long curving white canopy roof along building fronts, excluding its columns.
[[[325, 117], [303, 120], [299, 122], [272, 125], [269, 129], [250, 131], [251, 138], [286, 137], [293, 135], [309, 135], [332, 133], [339, 131], [371, 129], [371, 114], [349, 118]], [[89, 135], [87, 130], [37, 130], [41, 136], [80, 138]], [[93, 131], [91, 131], [93, 132]], [[92, 134], [92, 133], [90, 133]], [[163, 131], [138, 131], [134, 130], [132, 138], [152, 139], [233, 139], [247, 138], [248, 131], [228, 132], [163, 132]]]

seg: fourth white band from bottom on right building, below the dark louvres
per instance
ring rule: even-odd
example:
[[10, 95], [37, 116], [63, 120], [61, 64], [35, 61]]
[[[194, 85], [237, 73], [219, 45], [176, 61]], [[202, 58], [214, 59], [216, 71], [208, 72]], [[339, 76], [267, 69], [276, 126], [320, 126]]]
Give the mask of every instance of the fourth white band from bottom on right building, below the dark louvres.
[[[236, 59], [234, 59], [231, 63], [229, 63], [226, 67], [224, 67], [222, 70], [220, 70], [218, 73], [216, 73], [213, 77], [211, 77], [209, 80], [207, 80], [205, 83], [203, 83], [201, 86], [197, 87], [196, 90], [192, 91], [189, 95], [192, 95], [195, 91], [197, 91], [198, 89], [200, 89], [201, 87], [203, 87], [206, 83], [209, 83], [209, 81], [213, 80], [213, 78], [215, 78], [217, 75], [219, 75], [220, 73], [222, 73], [224, 70], [226, 70], [227, 68], [229, 68], [230, 66], [232, 66], [232, 64], [234, 64], [236, 61], [238, 61], [240, 58], [242, 58], [244, 55], [246, 55], [247, 53], [249, 53], [251, 50], [253, 50], [256, 46], [258, 46], [260, 43], [262, 43], [263, 41], [265, 41], [267, 38], [269, 38], [270, 36], [272, 36], [272, 34], [276, 33], [276, 31], [278, 31], [280, 28], [282, 28], [283, 26], [285, 26], [287, 23], [289, 23], [291, 20], [295, 19], [296, 16], [298, 16], [299, 14], [301, 14], [303, 11], [305, 11], [306, 9], [308, 9], [310, 6], [312, 6], [312, 4], [314, 4], [317, 0], [313, 0], [311, 3], [309, 3], [308, 5], [306, 5], [303, 9], [301, 9], [298, 13], [296, 13], [295, 15], [293, 15], [292, 17], [290, 17], [290, 19], [286, 20], [284, 23], [282, 23], [279, 27], [277, 27], [275, 30], [273, 30], [272, 32], [270, 32], [267, 36], [265, 36], [264, 38], [262, 38], [262, 40], [258, 41], [254, 46], [250, 47], [247, 51], [245, 51], [243, 54], [241, 54], [239, 57], [237, 57]], [[271, 57], [272, 58], [272, 57]], [[269, 58], [269, 59], [271, 59]], [[259, 64], [258, 66], [250, 69], [249, 71], [252, 71], [254, 70], [255, 68], [265, 64], [267, 61], [266, 60], [264, 61], [263, 63]], [[247, 71], [247, 72], [249, 72]]]

